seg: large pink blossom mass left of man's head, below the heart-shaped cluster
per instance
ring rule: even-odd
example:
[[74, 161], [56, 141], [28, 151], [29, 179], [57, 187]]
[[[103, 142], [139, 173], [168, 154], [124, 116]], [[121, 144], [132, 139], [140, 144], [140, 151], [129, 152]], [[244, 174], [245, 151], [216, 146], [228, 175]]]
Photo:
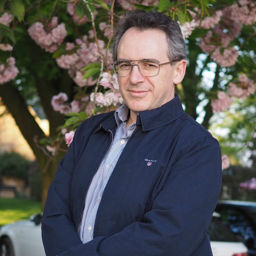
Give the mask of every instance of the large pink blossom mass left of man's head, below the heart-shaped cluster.
[[[101, 54], [105, 56], [107, 54], [107, 62], [111, 63], [112, 55], [110, 51], [106, 50], [105, 43], [102, 40], [98, 40]], [[76, 51], [74, 52], [74, 48]], [[68, 69], [69, 75], [73, 78], [74, 82], [80, 86], [92, 86], [96, 83], [95, 80], [83, 79], [83, 73], [81, 69], [90, 63], [99, 62], [100, 54], [96, 43], [89, 42], [87, 36], [83, 36], [82, 39], [76, 39], [76, 44], [67, 43], [66, 50], [70, 51], [70, 54], [63, 54], [56, 59], [59, 67]]]

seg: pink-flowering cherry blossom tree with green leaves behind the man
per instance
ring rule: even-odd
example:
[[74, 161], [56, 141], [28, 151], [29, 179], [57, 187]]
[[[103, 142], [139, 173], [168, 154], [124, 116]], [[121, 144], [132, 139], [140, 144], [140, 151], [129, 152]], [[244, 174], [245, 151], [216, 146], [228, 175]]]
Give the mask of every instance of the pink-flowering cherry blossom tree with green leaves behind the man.
[[[43, 201], [76, 127], [122, 104], [109, 49], [116, 21], [136, 8], [179, 22], [188, 68], [176, 91], [194, 119], [208, 128], [234, 103], [255, 102], [253, 0], [0, 0], [0, 97], [37, 158]], [[50, 136], [28, 105], [43, 109]]]

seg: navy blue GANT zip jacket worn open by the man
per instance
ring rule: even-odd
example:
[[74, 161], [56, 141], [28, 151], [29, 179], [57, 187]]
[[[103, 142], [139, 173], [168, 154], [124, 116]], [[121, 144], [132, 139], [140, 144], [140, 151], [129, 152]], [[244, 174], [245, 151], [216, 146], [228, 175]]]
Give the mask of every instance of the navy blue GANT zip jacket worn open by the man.
[[206, 231], [221, 188], [217, 140], [183, 111], [177, 95], [140, 112], [136, 124], [86, 244], [78, 235], [86, 192], [117, 124], [110, 112], [79, 126], [48, 191], [42, 220], [47, 256], [212, 255]]

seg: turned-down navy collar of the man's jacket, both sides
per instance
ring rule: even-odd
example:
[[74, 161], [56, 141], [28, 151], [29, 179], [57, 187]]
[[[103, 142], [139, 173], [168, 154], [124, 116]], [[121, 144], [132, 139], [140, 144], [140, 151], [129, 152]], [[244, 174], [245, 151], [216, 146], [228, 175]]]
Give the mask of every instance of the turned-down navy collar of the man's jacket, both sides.
[[[141, 125], [142, 131], [153, 130], [160, 126], [171, 123], [172, 121], [179, 118], [183, 113], [184, 110], [181, 105], [180, 98], [177, 94], [175, 94], [175, 97], [171, 101], [165, 103], [159, 108], [138, 112], [136, 125]], [[101, 128], [108, 130], [116, 126], [116, 119], [113, 115], [112, 118], [103, 121], [95, 129], [95, 132], [99, 131]]]

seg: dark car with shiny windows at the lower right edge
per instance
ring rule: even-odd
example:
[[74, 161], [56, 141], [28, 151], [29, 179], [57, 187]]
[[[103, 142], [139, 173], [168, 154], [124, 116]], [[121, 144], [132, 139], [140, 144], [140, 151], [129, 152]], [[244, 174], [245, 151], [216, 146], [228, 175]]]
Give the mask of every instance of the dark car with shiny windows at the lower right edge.
[[256, 202], [221, 200], [215, 211], [229, 229], [240, 237], [250, 256], [256, 256]]

